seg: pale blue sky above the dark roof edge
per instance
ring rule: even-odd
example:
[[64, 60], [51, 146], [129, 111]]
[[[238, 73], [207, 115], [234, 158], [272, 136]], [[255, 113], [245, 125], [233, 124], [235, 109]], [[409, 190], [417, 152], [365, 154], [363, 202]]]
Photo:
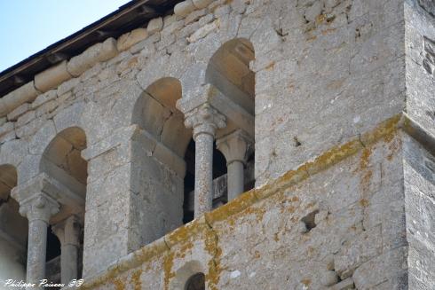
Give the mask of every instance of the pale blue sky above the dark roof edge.
[[129, 0], [0, 0], [0, 72]]

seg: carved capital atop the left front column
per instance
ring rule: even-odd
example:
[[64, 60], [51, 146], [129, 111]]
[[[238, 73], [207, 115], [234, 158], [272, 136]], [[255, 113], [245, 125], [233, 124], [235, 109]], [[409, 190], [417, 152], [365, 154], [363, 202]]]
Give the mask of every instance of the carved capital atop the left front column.
[[20, 202], [20, 215], [27, 217], [29, 222], [41, 220], [48, 223], [58, 212], [59, 203], [44, 192], [37, 192]]

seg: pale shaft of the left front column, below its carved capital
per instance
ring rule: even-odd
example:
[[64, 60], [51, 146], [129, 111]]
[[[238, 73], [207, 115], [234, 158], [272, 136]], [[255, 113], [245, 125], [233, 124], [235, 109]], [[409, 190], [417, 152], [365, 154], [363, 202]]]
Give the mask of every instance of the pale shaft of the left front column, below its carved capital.
[[27, 281], [36, 284], [36, 287], [28, 287], [28, 289], [39, 289], [37, 285], [45, 278], [47, 226], [48, 224], [42, 220], [32, 220], [28, 223]]

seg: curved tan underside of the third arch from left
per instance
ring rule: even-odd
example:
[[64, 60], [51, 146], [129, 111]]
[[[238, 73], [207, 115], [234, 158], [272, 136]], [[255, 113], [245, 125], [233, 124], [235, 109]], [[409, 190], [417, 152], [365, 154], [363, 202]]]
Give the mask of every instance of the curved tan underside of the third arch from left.
[[180, 98], [181, 82], [173, 77], [163, 77], [148, 85], [138, 98], [131, 121], [179, 157], [184, 157], [192, 132], [186, 129], [184, 116], [176, 107]]

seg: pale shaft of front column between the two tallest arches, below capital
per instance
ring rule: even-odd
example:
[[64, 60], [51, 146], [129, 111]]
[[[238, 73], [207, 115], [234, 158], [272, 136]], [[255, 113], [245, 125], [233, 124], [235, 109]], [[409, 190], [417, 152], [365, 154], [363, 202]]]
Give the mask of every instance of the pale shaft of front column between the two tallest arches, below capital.
[[213, 141], [207, 133], [195, 137], [195, 217], [210, 211], [213, 205]]

